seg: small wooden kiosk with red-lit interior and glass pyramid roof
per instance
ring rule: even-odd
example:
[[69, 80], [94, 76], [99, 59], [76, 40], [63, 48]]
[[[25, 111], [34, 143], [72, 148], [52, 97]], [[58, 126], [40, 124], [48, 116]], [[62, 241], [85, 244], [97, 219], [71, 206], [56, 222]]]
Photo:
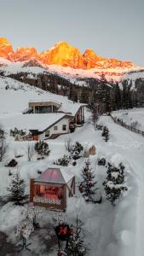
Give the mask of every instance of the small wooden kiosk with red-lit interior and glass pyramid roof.
[[51, 210], [66, 210], [67, 198], [75, 194], [75, 177], [61, 168], [48, 168], [30, 181], [30, 201]]

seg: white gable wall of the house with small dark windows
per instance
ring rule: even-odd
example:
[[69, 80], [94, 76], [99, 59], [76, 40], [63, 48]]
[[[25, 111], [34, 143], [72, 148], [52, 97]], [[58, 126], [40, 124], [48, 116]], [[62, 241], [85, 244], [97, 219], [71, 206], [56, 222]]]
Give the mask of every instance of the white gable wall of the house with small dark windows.
[[[58, 133], [68, 133], [70, 132], [69, 130], [69, 119], [68, 117], [65, 117], [63, 119], [61, 119], [59, 122], [57, 122], [55, 125], [51, 126], [48, 131], [49, 131], [49, 137], [52, 134], [58, 134]], [[62, 130], [62, 125], [66, 125], [66, 131]], [[57, 126], [57, 130], [54, 130], [54, 126]], [[43, 132], [43, 134], [39, 135], [39, 140], [43, 140], [49, 137], [45, 137], [45, 132]]]

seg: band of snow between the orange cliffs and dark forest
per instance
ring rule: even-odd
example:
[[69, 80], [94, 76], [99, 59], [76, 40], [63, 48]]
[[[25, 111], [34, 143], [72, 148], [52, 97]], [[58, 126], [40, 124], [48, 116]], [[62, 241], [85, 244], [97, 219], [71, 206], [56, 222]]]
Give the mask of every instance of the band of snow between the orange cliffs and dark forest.
[[123, 79], [144, 79], [144, 67], [116, 67], [116, 68], [90, 68], [75, 69], [72, 67], [61, 67], [57, 65], [44, 65], [42, 67], [26, 67], [28, 61], [11, 62], [0, 58], [0, 72], [5, 76], [17, 73], [28, 73], [30, 79], [37, 79], [37, 75], [41, 73], [57, 74], [61, 77], [69, 79], [72, 83], [86, 86], [86, 82], [81, 79], [101, 79], [101, 74], [105, 74], [106, 79], [111, 81], [121, 81]]

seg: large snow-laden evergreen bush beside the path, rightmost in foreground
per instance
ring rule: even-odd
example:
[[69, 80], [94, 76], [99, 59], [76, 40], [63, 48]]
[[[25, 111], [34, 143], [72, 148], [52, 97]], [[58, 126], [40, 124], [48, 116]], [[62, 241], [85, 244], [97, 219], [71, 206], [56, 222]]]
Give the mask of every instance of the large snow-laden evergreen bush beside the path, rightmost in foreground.
[[113, 206], [116, 204], [116, 200], [123, 195], [124, 190], [127, 190], [124, 184], [124, 168], [122, 163], [118, 167], [108, 163], [107, 178], [103, 182], [103, 186], [107, 200], [111, 201]]

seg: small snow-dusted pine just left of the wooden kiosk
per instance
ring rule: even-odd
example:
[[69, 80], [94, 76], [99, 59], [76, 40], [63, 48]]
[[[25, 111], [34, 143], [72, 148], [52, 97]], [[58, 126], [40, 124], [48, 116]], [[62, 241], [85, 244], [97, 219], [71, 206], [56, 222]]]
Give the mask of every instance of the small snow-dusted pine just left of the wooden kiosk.
[[9, 200], [14, 201], [15, 205], [21, 205], [21, 201], [26, 198], [25, 196], [26, 183], [24, 179], [20, 177], [20, 171], [17, 169], [13, 174], [11, 183], [7, 190], [10, 192]]

